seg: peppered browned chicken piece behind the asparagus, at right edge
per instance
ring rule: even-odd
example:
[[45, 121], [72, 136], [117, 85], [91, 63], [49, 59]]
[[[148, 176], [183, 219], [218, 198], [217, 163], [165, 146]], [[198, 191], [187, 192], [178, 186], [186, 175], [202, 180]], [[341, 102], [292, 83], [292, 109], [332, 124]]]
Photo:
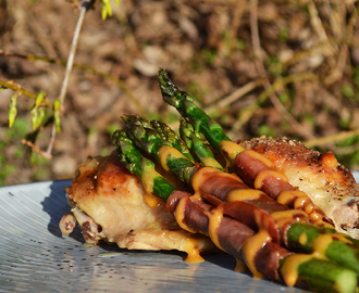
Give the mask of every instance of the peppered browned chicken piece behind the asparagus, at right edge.
[[333, 220], [338, 232], [359, 239], [359, 184], [333, 153], [321, 154], [286, 138], [261, 137], [237, 143], [269, 158]]

